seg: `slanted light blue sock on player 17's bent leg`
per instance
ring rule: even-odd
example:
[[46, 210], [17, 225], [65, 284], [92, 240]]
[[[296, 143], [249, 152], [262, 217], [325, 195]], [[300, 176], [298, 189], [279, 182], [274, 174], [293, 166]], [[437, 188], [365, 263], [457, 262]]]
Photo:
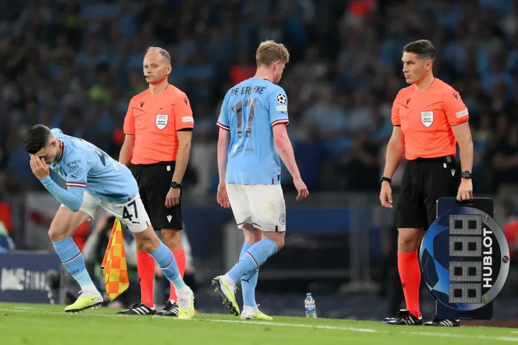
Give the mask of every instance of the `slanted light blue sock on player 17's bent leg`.
[[238, 281], [243, 276], [259, 268], [266, 260], [277, 252], [277, 245], [269, 238], [263, 238], [244, 252], [239, 262], [228, 271], [228, 276]]

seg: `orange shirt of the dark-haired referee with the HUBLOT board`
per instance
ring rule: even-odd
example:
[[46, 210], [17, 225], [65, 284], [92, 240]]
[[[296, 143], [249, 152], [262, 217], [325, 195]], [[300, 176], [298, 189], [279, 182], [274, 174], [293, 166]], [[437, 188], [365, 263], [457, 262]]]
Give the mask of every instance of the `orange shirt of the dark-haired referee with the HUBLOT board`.
[[468, 119], [461, 95], [437, 78], [423, 92], [414, 85], [401, 89], [392, 106], [392, 124], [401, 126], [409, 160], [454, 156], [457, 141], [451, 127]]

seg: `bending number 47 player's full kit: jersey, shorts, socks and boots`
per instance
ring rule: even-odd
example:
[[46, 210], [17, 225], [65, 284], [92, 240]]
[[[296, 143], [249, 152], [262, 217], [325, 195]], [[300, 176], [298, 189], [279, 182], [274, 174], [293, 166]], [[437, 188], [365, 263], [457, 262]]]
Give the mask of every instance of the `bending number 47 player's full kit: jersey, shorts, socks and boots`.
[[[61, 150], [60, 156], [49, 164], [49, 168], [65, 179], [67, 189], [58, 186], [50, 176], [43, 178], [41, 183], [63, 207], [74, 212], [83, 211], [92, 219], [99, 208], [104, 208], [134, 233], [150, 227], [137, 182], [128, 168], [87, 141], [66, 136], [57, 128], [52, 129], [51, 133], [60, 142]], [[102, 305], [103, 297], [92, 282], [81, 251], [72, 237], [65, 237], [52, 245], [68, 273], [81, 287], [76, 302], [67, 306], [65, 311], [77, 312]], [[159, 241], [158, 247], [149, 254], [178, 293], [178, 317], [192, 318], [194, 295], [185, 285], [172, 252]], [[149, 306], [147, 311], [140, 313], [154, 312], [154, 306]]]

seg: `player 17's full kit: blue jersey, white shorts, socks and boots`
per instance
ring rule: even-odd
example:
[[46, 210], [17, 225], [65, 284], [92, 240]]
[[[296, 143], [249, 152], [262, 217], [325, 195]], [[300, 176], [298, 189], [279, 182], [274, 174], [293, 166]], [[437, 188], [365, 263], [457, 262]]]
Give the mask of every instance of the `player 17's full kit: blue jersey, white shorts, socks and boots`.
[[[268, 232], [284, 232], [286, 205], [281, 188], [281, 161], [274, 144], [274, 126], [287, 126], [287, 97], [282, 87], [263, 78], [250, 78], [225, 95], [218, 126], [230, 131], [227, 152], [226, 190], [239, 228], [244, 223]], [[223, 298], [225, 308], [236, 316], [236, 282], [241, 280], [241, 319], [271, 320], [259, 311], [255, 286], [259, 267], [278, 250], [271, 238], [243, 243], [239, 262], [211, 286]]]

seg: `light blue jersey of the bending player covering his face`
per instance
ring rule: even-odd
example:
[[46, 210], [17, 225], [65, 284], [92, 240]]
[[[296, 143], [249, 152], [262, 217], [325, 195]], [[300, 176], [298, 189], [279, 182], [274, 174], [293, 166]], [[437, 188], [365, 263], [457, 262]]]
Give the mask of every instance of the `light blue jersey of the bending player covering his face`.
[[70, 187], [83, 187], [99, 200], [123, 204], [135, 198], [138, 186], [130, 169], [88, 141], [51, 130], [61, 142], [62, 155], [49, 168]]

